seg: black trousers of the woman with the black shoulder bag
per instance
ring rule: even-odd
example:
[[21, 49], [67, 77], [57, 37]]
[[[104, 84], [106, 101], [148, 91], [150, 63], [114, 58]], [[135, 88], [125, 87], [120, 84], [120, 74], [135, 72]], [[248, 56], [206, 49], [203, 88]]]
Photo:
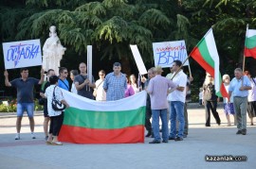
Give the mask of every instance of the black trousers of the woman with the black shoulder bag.
[[58, 116], [51, 116], [50, 117], [50, 127], [49, 127], [49, 134], [53, 136], [58, 136], [61, 130], [61, 127], [64, 123], [64, 113], [62, 112], [61, 115]]

